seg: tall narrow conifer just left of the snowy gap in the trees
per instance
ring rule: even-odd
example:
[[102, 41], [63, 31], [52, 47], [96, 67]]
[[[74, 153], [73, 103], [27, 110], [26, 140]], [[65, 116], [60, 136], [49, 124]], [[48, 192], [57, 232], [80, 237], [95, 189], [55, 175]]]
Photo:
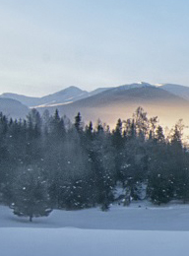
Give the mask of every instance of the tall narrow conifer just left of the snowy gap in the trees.
[[95, 203], [101, 205], [101, 210], [106, 211], [113, 200], [113, 188], [115, 184], [115, 165], [110, 134], [103, 130], [98, 123], [93, 141], [93, 149], [90, 154]]

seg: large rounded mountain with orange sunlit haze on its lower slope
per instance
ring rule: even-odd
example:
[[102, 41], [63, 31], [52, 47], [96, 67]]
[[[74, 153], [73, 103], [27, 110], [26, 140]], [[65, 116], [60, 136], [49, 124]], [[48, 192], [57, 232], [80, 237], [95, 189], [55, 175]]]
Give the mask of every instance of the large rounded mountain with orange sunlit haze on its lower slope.
[[61, 115], [66, 114], [71, 120], [80, 111], [85, 122], [95, 122], [100, 118], [112, 127], [119, 117], [131, 117], [138, 106], [142, 106], [150, 116], [158, 116], [164, 126], [172, 126], [180, 118], [189, 120], [188, 100], [149, 84], [133, 84], [131, 89], [121, 86], [71, 104], [47, 108], [51, 113], [58, 108]]

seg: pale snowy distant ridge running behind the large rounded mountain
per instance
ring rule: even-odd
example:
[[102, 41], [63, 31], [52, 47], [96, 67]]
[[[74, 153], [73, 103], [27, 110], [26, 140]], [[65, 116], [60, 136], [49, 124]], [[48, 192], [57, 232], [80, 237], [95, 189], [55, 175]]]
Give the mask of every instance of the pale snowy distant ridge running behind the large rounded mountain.
[[161, 88], [175, 96], [181, 96], [189, 100], [189, 88], [185, 86], [179, 86], [174, 84], [158, 84], [152, 85], [147, 82], [138, 82], [133, 84], [126, 84], [119, 87], [112, 88], [97, 88], [92, 92], [84, 91], [78, 87], [71, 86], [56, 93], [47, 96], [24, 96], [13, 93], [4, 93], [0, 97], [13, 98], [21, 101], [23, 104], [29, 107], [46, 107], [51, 105], [60, 105], [61, 103], [73, 103], [75, 101], [81, 100], [83, 98], [88, 98], [90, 96], [95, 96], [106, 91], [125, 91], [134, 88], [144, 88], [144, 87], [158, 87]]

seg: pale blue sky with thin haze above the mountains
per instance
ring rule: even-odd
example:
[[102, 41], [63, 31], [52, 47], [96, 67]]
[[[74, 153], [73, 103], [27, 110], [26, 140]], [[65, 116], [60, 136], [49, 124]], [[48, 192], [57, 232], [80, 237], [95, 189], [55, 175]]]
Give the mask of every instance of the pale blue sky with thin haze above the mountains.
[[0, 94], [189, 86], [187, 0], [0, 0]]

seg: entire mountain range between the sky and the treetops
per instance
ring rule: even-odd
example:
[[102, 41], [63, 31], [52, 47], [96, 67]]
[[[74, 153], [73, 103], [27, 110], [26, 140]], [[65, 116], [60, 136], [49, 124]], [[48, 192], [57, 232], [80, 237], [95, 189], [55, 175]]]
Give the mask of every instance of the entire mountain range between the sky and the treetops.
[[[3, 104], [3, 99], [8, 100], [6, 96], [13, 98], [13, 101]], [[186, 122], [189, 120], [189, 88], [171, 84], [156, 87], [140, 82], [114, 88], [98, 88], [90, 93], [77, 87], [69, 87], [48, 96], [3, 94], [0, 99], [0, 111], [18, 118], [26, 116], [29, 108], [24, 104], [27, 104], [36, 107], [41, 113], [46, 108], [51, 113], [58, 108], [61, 115], [66, 114], [72, 121], [80, 111], [85, 122], [95, 122], [100, 118], [111, 127], [119, 117], [131, 117], [138, 106], [142, 106], [151, 116], [158, 115], [160, 123], [164, 126], [172, 126], [180, 118]]]

